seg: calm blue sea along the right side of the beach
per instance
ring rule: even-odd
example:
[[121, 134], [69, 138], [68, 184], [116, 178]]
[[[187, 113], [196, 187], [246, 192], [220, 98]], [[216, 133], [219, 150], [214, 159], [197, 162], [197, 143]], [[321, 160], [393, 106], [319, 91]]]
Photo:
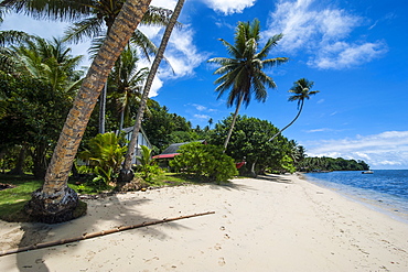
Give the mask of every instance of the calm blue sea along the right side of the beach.
[[408, 170], [374, 170], [374, 174], [335, 171], [308, 173], [305, 177], [408, 222]]

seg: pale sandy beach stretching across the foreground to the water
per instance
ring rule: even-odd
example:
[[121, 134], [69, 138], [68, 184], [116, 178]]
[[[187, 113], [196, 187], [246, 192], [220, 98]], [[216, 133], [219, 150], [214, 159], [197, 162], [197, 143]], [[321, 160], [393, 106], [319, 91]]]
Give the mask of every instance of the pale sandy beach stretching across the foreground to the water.
[[215, 214], [0, 257], [0, 271], [408, 271], [408, 224], [296, 174], [87, 203], [65, 224], [0, 221], [0, 250]]

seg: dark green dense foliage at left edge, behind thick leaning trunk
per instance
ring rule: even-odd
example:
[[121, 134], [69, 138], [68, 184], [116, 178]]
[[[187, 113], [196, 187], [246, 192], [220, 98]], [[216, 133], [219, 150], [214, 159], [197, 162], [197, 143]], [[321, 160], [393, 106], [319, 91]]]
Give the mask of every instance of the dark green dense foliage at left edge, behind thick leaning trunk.
[[71, 107], [73, 93], [29, 76], [13, 77], [0, 72], [2, 116], [0, 148], [22, 145], [32, 156], [31, 171], [43, 177], [62, 126]]

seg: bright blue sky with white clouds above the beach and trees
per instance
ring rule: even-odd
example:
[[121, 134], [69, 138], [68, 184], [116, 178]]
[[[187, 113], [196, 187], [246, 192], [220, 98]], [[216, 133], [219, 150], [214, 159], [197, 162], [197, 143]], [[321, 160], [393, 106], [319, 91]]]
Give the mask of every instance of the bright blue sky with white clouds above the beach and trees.
[[[173, 8], [175, 0], [153, 0]], [[238, 21], [259, 19], [262, 37], [283, 33], [270, 57], [290, 62], [268, 70], [278, 85], [265, 104], [253, 100], [240, 115], [283, 128], [297, 115], [288, 89], [305, 77], [320, 94], [284, 131], [310, 156], [364, 160], [372, 168], [408, 168], [408, 2], [406, 0], [186, 0], [151, 96], [194, 126], [226, 118], [216, 99], [211, 57], [227, 56], [218, 39], [234, 42]], [[6, 17], [2, 30], [61, 36], [66, 24]], [[159, 43], [162, 30], [143, 31]], [[74, 47], [86, 54], [88, 44]]]

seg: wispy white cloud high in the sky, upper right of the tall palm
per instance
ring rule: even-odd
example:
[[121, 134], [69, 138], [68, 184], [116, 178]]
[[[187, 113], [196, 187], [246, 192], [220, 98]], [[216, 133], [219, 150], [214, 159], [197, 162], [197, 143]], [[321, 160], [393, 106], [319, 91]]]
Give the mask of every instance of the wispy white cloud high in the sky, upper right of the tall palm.
[[265, 36], [283, 33], [279, 42], [290, 54], [308, 52], [308, 65], [322, 69], [350, 68], [387, 52], [384, 41], [348, 41], [365, 19], [343, 9], [315, 9], [315, 0], [281, 0], [270, 14]]

